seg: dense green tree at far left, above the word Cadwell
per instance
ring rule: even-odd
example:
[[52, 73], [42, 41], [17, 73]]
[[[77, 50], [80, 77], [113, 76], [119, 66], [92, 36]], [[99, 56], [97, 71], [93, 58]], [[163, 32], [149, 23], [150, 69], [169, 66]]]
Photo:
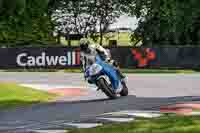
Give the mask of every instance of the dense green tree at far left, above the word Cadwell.
[[1, 45], [51, 40], [49, 0], [0, 0]]

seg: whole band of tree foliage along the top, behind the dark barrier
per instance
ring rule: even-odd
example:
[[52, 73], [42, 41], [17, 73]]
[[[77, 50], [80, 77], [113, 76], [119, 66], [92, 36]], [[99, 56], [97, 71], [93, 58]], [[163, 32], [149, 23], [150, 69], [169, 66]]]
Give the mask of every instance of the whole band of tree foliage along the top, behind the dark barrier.
[[100, 37], [102, 44], [109, 26], [122, 14], [140, 19], [134, 42], [200, 44], [199, 0], [0, 0], [0, 45], [48, 43], [55, 40], [54, 31], [94, 41]]

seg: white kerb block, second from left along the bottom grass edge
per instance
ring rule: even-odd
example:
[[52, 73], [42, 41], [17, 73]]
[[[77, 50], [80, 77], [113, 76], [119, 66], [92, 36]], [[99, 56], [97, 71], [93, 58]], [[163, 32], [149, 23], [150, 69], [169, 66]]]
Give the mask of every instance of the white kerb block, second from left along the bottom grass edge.
[[65, 123], [64, 125], [76, 127], [76, 128], [93, 128], [97, 126], [102, 126], [102, 123]]

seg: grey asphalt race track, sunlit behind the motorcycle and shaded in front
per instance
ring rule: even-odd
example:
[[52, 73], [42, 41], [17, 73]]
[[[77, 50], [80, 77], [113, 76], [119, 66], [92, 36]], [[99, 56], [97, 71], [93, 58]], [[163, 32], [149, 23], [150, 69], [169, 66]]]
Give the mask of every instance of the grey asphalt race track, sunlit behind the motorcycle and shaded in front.
[[0, 132], [65, 129], [66, 123], [92, 121], [123, 110], [159, 110], [160, 107], [200, 101], [199, 74], [128, 74], [130, 95], [108, 100], [78, 73], [0, 73], [0, 82], [86, 86], [89, 95], [62, 97], [56, 102], [0, 111]]

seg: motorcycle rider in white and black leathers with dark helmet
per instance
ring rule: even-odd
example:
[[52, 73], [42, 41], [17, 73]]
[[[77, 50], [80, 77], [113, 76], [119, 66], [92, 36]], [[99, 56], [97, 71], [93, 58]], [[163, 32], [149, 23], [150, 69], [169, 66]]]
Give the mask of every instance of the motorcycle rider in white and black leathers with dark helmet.
[[86, 38], [83, 38], [80, 40], [80, 50], [81, 50], [81, 62], [83, 66], [83, 70], [90, 66], [93, 62], [90, 62], [91, 60], [95, 61], [96, 55], [99, 55], [106, 63], [112, 65], [116, 71], [120, 79], [125, 82], [125, 76], [121, 73], [119, 70], [118, 63], [111, 59], [111, 55], [108, 50], [103, 48], [102, 46], [98, 44], [90, 44], [90, 41]]

